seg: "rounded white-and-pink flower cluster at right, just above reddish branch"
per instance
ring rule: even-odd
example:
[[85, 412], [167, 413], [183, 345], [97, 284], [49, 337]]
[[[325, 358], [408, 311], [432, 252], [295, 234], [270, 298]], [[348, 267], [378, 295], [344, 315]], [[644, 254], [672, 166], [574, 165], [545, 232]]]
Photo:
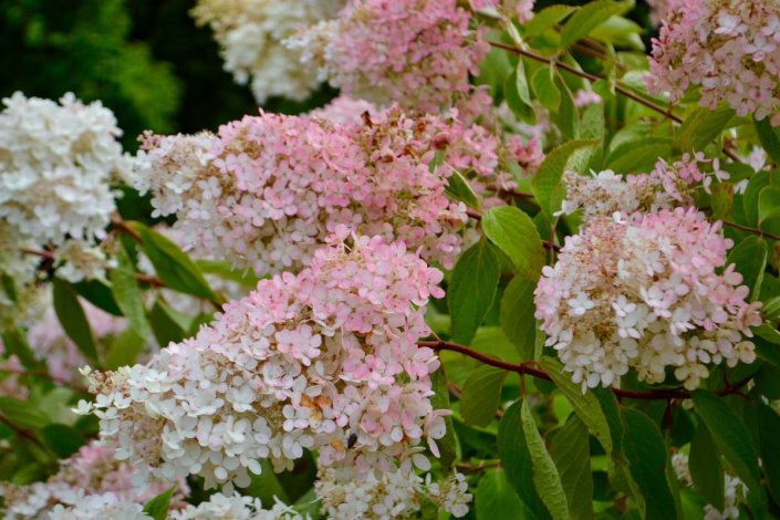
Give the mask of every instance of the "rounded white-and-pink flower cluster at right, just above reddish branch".
[[716, 272], [732, 245], [694, 208], [594, 218], [542, 271], [535, 316], [547, 345], [583, 392], [618, 386], [631, 368], [662, 383], [667, 367], [695, 389], [709, 364], [752, 363], [742, 334], [761, 323], [761, 303], [746, 302], [734, 264]]

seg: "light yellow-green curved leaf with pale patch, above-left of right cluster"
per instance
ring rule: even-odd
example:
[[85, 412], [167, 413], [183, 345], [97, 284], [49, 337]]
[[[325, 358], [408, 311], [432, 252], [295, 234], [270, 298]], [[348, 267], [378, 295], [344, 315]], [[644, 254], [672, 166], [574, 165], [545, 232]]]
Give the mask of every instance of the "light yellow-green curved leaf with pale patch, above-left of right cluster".
[[560, 208], [552, 207], [553, 191], [561, 185], [564, 171], [586, 173], [587, 165], [593, 156], [599, 153], [600, 142], [595, 139], [570, 141], [553, 148], [544, 158], [531, 181], [533, 195], [539, 206], [547, 215], [548, 220], [553, 220], [552, 214]]

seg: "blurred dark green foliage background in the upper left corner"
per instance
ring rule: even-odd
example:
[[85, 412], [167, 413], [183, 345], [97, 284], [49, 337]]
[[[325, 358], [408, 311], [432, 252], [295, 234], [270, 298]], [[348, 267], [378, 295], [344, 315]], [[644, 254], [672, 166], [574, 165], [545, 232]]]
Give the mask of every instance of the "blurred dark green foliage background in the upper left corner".
[[[279, 0], [284, 1], [284, 0]], [[539, 0], [585, 3], [584, 0]], [[222, 71], [208, 28], [195, 27], [195, 0], [0, 0], [0, 97], [15, 91], [101, 100], [137, 148], [144, 129], [193, 133], [257, 113], [248, 87]], [[648, 27], [646, 6], [632, 13]], [[326, 102], [271, 100], [272, 112], [300, 113]]]

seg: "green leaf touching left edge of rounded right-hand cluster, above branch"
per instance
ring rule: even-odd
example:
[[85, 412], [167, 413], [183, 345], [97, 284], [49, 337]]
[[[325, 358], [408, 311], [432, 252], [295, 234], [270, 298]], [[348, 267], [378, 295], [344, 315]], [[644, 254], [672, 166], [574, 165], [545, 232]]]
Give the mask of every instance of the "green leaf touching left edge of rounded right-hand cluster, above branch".
[[537, 284], [514, 277], [501, 299], [501, 329], [509, 337], [522, 361], [535, 358], [537, 321], [533, 313], [533, 291]]

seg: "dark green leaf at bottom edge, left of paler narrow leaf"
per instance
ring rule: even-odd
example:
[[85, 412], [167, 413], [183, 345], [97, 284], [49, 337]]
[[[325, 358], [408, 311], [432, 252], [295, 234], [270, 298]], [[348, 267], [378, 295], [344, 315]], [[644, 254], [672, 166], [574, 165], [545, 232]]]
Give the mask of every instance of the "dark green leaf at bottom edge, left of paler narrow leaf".
[[518, 493], [531, 514], [547, 520], [550, 512], [537, 493], [533, 481], [533, 462], [523, 431], [521, 410], [524, 399], [516, 402], [503, 414], [498, 424], [498, 455], [507, 480]]

